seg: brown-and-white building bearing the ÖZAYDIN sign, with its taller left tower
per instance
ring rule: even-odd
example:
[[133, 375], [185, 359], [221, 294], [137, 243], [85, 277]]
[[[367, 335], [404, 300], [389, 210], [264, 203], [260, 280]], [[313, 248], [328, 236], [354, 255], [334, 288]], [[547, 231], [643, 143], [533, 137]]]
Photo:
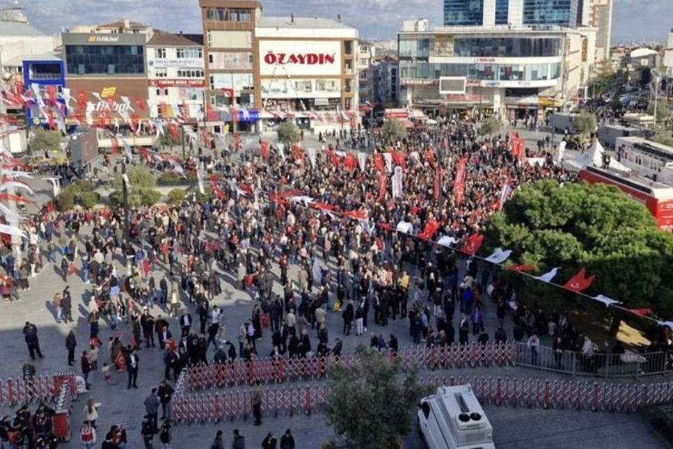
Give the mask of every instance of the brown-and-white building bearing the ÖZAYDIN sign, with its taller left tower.
[[199, 5], [209, 127], [265, 131], [288, 118], [307, 129], [354, 125], [355, 29], [328, 19], [264, 17], [253, 0]]

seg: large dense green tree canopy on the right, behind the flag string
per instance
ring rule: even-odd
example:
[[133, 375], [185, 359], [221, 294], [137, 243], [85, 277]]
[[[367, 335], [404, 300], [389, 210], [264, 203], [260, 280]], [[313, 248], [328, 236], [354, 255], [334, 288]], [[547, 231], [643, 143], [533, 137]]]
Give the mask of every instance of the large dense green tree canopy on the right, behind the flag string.
[[[626, 306], [673, 315], [660, 299], [673, 275], [673, 235], [616, 187], [544, 180], [518, 191], [486, 228], [486, 246], [511, 249], [539, 272], [596, 274], [591, 289]], [[669, 314], [670, 312], [670, 314]]]

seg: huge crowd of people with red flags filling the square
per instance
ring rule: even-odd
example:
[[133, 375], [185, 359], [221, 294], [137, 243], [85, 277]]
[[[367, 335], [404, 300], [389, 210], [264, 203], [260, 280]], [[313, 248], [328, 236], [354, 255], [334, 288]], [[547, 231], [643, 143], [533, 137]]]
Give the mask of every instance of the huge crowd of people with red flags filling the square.
[[[477, 123], [467, 120], [416, 127], [397, 142], [383, 141], [381, 134], [340, 137], [348, 145], [394, 152], [393, 164], [404, 167], [402, 193], [393, 198], [390, 189], [379, 189], [390, 172], [378, 166], [373, 154], [362, 169], [332, 144], [317, 152], [315, 162], [306, 150], [286, 149], [285, 155], [273, 146], [268, 155], [259, 148], [236, 152], [232, 146], [198, 150], [185, 166], [205, 166], [212, 175], [209, 200], [199, 202], [195, 196], [177, 206], [132, 208], [130, 238], [122, 210], [57, 212], [45, 205], [22, 224], [29, 238], [21, 264], [0, 246], [3, 298], [18, 300], [21, 290], [29, 289], [29, 279], [51, 263], [64, 281], [51, 301], [54, 319], [72, 322], [69, 285], [78, 277], [87, 284], [89, 340], [79, 364], [87, 386], [93, 370], [106, 380], [111, 372], [126, 371], [127, 388], [137, 388], [138, 351], [158, 347], [163, 352], [164, 381], [145, 400], [146, 448], [157, 434], [164, 448], [171, 447], [170, 381], [190, 364], [340, 354], [351, 333], [368, 333], [372, 346], [397, 351], [399, 336], [383, 337], [392, 320], [408, 320], [415, 344], [463, 344], [470, 341], [470, 328], [473, 341], [488, 340], [482, 309], [484, 289], [493, 281], [489, 268], [474, 260], [463, 263], [414, 235], [431, 224], [431, 239], [464, 239], [482, 230], [498, 210], [505, 184], [515, 190], [543, 178], [571, 180], [571, 175], [551, 164], [551, 155], [541, 166], [516, 159], [508, 136], [482, 138]], [[464, 194], [458, 196], [454, 177], [465, 157]], [[411, 223], [413, 235], [395, 232], [399, 221]], [[273, 288], [276, 269], [280, 294]], [[225, 332], [225, 313], [215, 304], [223, 282], [255, 301], [248, 320], [228, 323], [237, 329], [237, 341]], [[505, 283], [494, 284], [489, 296], [500, 310], [512, 291]], [[330, 316], [343, 324], [332, 345]], [[107, 342], [100, 338], [102, 321], [111, 330]], [[131, 338], [125, 342], [121, 329], [127, 326]], [[24, 328], [26, 343], [31, 356], [41, 356], [33, 327], [27, 323]], [[261, 341], [265, 347], [270, 342], [269, 354], [260, 354]], [[68, 363], [74, 364], [74, 335], [68, 335], [65, 347]], [[95, 418], [86, 420], [82, 443], [97, 441], [95, 427]], [[111, 428], [102, 447], [124, 448], [116, 436], [121, 431]], [[223, 436], [216, 437], [213, 448], [222, 447], [218, 438]], [[275, 448], [275, 440], [269, 435], [264, 447]], [[289, 430], [280, 448], [294, 448]]]

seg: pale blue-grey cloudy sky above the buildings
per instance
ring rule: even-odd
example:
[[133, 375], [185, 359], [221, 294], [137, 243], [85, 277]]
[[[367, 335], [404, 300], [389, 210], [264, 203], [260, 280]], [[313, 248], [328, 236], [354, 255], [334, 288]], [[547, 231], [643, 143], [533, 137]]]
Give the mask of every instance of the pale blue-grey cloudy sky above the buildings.
[[[201, 33], [198, 0], [17, 0], [31, 24], [46, 33], [61, 26], [95, 25], [128, 18], [171, 32]], [[612, 42], [660, 41], [673, 28], [672, 0], [614, 0]], [[13, 0], [0, 0], [7, 6]], [[361, 38], [393, 39], [404, 19], [442, 22], [442, 0], [262, 0], [265, 15], [336, 19]], [[308, 13], [310, 12], [310, 14]]]

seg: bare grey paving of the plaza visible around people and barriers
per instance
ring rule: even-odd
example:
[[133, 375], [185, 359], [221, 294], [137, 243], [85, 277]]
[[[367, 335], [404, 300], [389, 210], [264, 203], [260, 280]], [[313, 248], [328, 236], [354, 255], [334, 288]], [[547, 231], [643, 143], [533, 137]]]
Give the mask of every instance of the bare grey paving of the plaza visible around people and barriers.
[[[31, 182], [38, 195], [36, 200], [43, 202], [49, 196], [50, 189], [47, 183], [40, 180]], [[35, 207], [35, 206], [31, 206]], [[80, 236], [90, 233], [91, 228], [84, 226]], [[80, 241], [83, 247], [83, 242]], [[125, 274], [125, 267], [120, 259], [116, 260], [120, 274]], [[77, 261], [77, 267], [81, 262]], [[157, 276], [155, 272], [155, 276]], [[274, 269], [276, 281], [274, 290], [281, 293], [278, 283], [279, 272]], [[244, 320], [251, 316], [251, 310], [255, 301], [248, 292], [237, 290], [232, 286], [234, 274], [221, 273], [223, 278], [223, 292], [216, 297], [214, 304], [221, 306], [225, 314], [225, 336], [232, 342], [237, 342], [238, 328]], [[296, 278], [296, 267], [290, 269], [290, 279]], [[88, 314], [88, 300], [90, 297], [90, 285], [85, 285], [81, 278], [81, 271], [77, 275], [68, 277], [68, 285], [72, 291], [73, 315], [76, 320], [72, 324], [57, 324], [54, 319], [54, 310], [51, 306], [54, 293], [60, 292], [65, 283], [58, 269], [47, 264], [42, 271], [31, 278], [31, 289], [21, 293], [21, 301], [3, 303], [0, 311], [1, 354], [3, 363], [0, 364], [0, 377], [17, 377], [20, 368], [28, 357], [28, 351], [22, 336], [22, 326], [26, 321], [38, 326], [38, 336], [45, 359], [38, 359], [35, 366], [40, 374], [52, 374], [54, 372], [66, 372], [72, 370], [67, 365], [65, 336], [70, 329], [77, 333], [77, 359], [81, 351], [88, 343], [89, 326], [86, 321]], [[496, 329], [495, 306], [490, 301], [485, 301], [485, 327], [491, 336]], [[192, 310], [194, 315], [194, 311]], [[166, 317], [167, 310], [159, 306], [152, 308], [152, 315]], [[196, 316], [196, 315], [194, 315]], [[175, 335], [178, 324], [177, 320], [170, 319], [171, 329]], [[339, 336], [344, 340], [344, 350], [351, 351], [357, 345], [368, 345], [370, 333], [363, 336], [341, 337], [342, 319], [340, 313], [328, 313], [327, 317], [330, 346], [334, 338]], [[411, 345], [409, 336], [408, 320], [390, 321], [383, 328], [373, 324], [370, 319], [370, 332], [382, 333], [388, 337], [394, 333], [399, 339], [400, 346]], [[77, 324], [77, 326], [75, 326]], [[454, 327], [459, 325], [459, 314], [454, 315]], [[122, 340], [129, 342], [130, 326], [121, 325]], [[509, 338], [512, 336], [512, 322], [506, 320], [505, 330]], [[100, 339], [106, 343], [109, 336], [116, 334], [108, 324], [101, 321]], [[311, 332], [312, 342], [315, 342], [315, 332]], [[470, 335], [471, 340], [475, 340]], [[471, 341], [470, 340], [470, 341]], [[264, 330], [264, 335], [258, 342], [258, 352], [265, 356], [271, 350], [269, 330]], [[209, 359], [212, 360], [212, 349], [209, 350]], [[105, 383], [100, 372], [94, 372], [90, 376], [92, 388], [86, 395], [80, 395], [77, 402], [72, 405], [72, 439], [69, 443], [63, 443], [59, 447], [79, 448], [79, 425], [84, 420], [84, 404], [90, 395], [96, 402], [100, 402], [99, 434], [113, 424], [120, 424], [127, 429], [129, 434], [129, 448], [140, 449], [143, 447], [140, 424], [145, 413], [143, 407], [144, 398], [150, 393], [150, 389], [157, 386], [164, 372], [162, 353], [158, 348], [143, 349], [138, 353], [140, 357], [140, 373], [138, 375], [138, 390], [127, 390], [127, 377], [124, 372], [113, 373], [112, 380]], [[104, 345], [100, 352], [99, 365], [110, 361], [109, 352]], [[79, 363], [76, 368], [79, 374]], [[450, 377], [460, 375], [480, 375], [494, 377], [548, 377], [547, 374], [536, 370], [528, 370], [520, 367], [507, 368], [476, 368], [461, 370], [439, 370], [432, 373], [434, 376]], [[558, 376], [556, 379], [560, 378]], [[32, 407], [34, 409], [34, 407]], [[485, 407], [494, 427], [494, 439], [498, 448], [667, 448], [667, 444], [654, 432], [653, 427], [640, 416], [640, 414], [621, 413], [592, 413], [587, 411], [573, 410], [542, 410], [528, 408], [513, 408], [506, 405], [500, 407], [487, 405]], [[5, 407], [3, 412], [9, 413], [13, 409]], [[207, 423], [205, 425], [179, 425], [173, 432], [173, 448], [209, 448], [216, 430], [225, 432], [225, 443], [230, 444], [232, 430], [238, 428], [246, 436], [247, 447], [258, 448], [267, 432], [274, 432], [280, 437], [286, 429], [292, 429], [298, 448], [317, 448], [322, 441], [333, 436], [331, 427], [325, 421], [322, 413], [313, 413], [304, 416], [298, 413], [293, 417], [280, 416], [278, 418], [264, 418], [262, 426], [253, 426], [252, 420], [241, 420], [228, 423]], [[102, 439], [100, 439], [102, 441]], [[160, 447], [158, 439], [155, 447]], [[227, 446], [228, 447], [228, 446]], [[415, 434], [405, 439], [406, 448], [422, 448], [422, 442]]]

